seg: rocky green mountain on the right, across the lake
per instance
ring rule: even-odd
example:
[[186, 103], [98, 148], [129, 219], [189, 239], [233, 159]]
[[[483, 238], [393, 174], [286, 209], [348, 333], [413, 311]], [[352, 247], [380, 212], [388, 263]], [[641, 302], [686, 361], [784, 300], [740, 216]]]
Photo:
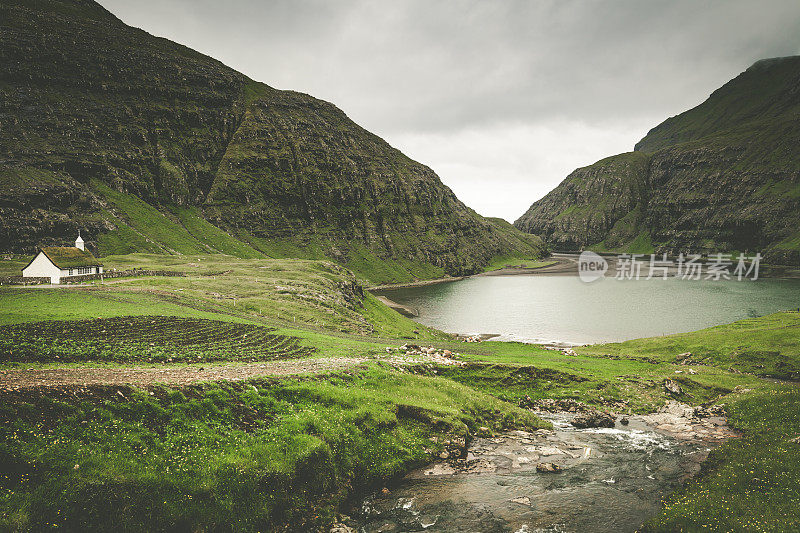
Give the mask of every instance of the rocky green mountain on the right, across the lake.
[[557, 249], [763, 252], [800, 264], [800, 56], [758, 61], [515, 222]]

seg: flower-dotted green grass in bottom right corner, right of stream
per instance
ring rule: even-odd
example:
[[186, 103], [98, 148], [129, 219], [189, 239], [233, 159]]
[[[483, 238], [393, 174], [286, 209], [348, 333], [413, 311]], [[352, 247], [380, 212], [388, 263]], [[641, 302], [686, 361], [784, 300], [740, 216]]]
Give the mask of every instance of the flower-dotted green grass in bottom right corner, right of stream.
[[666, 498], [643, 531], [800, 530], [800, 389], [762, 386], [725, 401], [744, 437], [714, 450], [705, 475]]

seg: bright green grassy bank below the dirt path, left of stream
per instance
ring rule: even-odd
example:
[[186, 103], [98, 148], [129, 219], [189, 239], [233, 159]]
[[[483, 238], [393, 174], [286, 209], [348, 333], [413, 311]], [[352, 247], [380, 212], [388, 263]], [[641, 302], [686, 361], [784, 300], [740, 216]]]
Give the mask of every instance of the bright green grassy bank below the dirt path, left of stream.
[[422, 465], [446, 439], [546, 425], [451, 381], [376, 367], [0, 405], [4, 529], [309, 531], [330, 524], [343, 488]]

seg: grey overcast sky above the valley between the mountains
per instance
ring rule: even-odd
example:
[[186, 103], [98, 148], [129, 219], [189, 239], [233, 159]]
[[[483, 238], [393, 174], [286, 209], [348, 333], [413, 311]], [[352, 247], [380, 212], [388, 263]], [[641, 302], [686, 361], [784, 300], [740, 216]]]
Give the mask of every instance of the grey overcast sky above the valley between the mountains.
[[331, 101], [509, 221], [764, 57], [800, 2], [100, 0], [249, 77]]

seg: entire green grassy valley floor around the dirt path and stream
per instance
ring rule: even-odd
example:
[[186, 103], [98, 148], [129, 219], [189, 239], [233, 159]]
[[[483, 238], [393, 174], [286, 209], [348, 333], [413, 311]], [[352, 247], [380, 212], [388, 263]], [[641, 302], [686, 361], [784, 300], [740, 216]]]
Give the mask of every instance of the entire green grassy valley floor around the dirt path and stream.
[[[369, 295], [348, 300], [354, 278], [327, 262], [132, 255], [107, 264], [192, 275], [0, 289], [0, 365], [372, 362], [321, 377], [2, 392], [0, 530], [109, 529], [111, 521], [122, 531], [324, 529], [348, 494], [430, 460], [448, 440], [481, 426], [541, 425], [521, 402], [571, 398], [649, 412], [673, 398], [665, 379], [681, 385], [680, 401], [724, 403], [745, 437], [714, 452], [648, 531], [797, 527], [798, 388], [757, 376], [795, 375], [797, 311], [567, 355], [455, 342]], [[43, 320], [74, 322], [53, 333], [36, 324]], [[404, 337], [460, 352], [469, 364], [399, 370], [383, 362]]]

